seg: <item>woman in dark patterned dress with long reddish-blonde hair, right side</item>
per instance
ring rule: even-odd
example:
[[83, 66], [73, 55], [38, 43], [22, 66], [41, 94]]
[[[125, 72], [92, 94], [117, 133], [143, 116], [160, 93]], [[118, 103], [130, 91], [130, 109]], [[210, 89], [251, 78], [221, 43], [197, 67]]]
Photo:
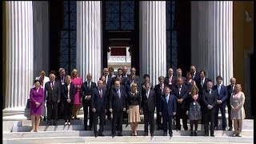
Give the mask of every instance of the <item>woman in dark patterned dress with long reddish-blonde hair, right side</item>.
[[[201, 113], [201, 106], [199, 104], [199, 98], [198, 98], [198, 86], [193, 85], [191, 87], [191, 94], [189, 98], [189, 109], [188, 109], [188, 115], [190, 119], [190, 130], [191, 134], [190, 136], [197, 136], [198, 135], [198, 122], [202, 118]], [[193, 131], [194, 126], [194, 131]]]

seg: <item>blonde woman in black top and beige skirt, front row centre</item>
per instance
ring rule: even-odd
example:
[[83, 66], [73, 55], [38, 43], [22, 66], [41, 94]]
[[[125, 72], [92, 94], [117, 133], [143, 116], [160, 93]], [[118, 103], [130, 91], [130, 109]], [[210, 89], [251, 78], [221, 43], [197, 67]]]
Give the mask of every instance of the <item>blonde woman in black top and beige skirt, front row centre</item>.
[[131, 135], [137, 136], [138, 122], [141, 122], [140, 107], [141, 107], [141, 95], [138, 92], [138, 86], [136, 83], [131, 85], [130, 93], [127, 96], [129, 110], [128, 122], [130, 123]]

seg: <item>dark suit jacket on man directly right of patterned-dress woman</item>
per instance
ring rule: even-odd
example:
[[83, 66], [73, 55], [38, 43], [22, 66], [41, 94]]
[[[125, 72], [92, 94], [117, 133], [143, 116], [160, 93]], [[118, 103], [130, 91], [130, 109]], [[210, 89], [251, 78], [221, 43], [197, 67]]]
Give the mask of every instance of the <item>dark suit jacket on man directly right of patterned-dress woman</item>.
[[209, 93], [208, 90], [205, 90], [203, 92], [203, 96], [202, 96], [202, 101], [203, 101], [203, 107], [205, 111], [210, 111], [208, 109], [208, 105], [213, 106], [213, 108], [211, 109], [212, 112], [214, 112], [215, 106], [217, 104], [217, 91], [216, 90], [211, 90], [211, 93]]

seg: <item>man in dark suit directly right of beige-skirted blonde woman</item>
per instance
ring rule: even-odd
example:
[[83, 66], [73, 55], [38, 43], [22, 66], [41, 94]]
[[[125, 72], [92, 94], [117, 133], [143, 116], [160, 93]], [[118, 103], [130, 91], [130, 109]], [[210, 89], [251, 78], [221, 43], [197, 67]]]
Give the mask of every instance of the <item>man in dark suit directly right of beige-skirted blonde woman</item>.
[[144, 136], [148, 136], [148, 126], [150, 123], [150, 135], [154, 136], [154, 110], [156, 104], [156, 96], [154, 90], [150, 90], [150, 83], [145, 84], [146, 93], [142, 95], [142, 110], [144, 114]]

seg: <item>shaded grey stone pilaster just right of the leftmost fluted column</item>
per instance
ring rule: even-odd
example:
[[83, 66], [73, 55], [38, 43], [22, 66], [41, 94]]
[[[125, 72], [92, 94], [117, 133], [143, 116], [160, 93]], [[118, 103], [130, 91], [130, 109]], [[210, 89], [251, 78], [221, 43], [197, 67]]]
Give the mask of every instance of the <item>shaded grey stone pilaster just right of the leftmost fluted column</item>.
[[49, 76], [49, 4], [33, 1], [34, 23], [34, 78], [45, 70]]

